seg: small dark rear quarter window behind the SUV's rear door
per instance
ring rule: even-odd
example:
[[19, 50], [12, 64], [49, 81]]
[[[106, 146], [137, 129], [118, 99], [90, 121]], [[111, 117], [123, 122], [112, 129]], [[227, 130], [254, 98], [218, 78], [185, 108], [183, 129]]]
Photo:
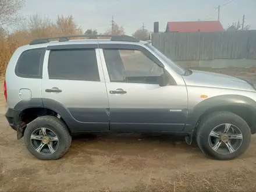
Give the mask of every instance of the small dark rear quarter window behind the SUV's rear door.
[[42, 78], [42, 62], [45, 48], [24, 51], [17, 61], [15, 74], [19, 77]]

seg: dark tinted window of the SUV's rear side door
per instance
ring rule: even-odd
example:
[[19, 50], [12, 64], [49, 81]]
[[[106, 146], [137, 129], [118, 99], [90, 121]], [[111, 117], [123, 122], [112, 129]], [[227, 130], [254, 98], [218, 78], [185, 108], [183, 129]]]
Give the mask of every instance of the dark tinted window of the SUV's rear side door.
[[49, 79], [99, 81], [95, 49], [52, 50], [48, 74]]

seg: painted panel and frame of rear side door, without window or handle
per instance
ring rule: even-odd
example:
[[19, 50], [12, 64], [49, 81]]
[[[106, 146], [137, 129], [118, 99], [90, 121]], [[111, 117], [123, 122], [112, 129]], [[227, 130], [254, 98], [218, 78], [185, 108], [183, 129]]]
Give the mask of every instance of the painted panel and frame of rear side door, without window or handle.
[[[45, 52], [43, 80], [41, 83], [42, 103], [47, 108], [52, 107], [52, 101], [65, 106], [68, 113], [63, 116], [72, 124], [72, 131], [108, 131], [109, 104], [106, 94], [102, 67], [96, 50], [100, 81], [58, 80], [49, 79], [48, 58], [50, 51]], [[58, 87], [61, 93], [47, 93], [46, 89]], [[51, 99], [51, 102], [49, 101]], [[52, 108], [54, 110], [54, 108]], [[61, 109], [64, 110], [64, 109]], [[73, 118], [73, 119], [72, 119]], [[76, 123], [75, 123], [76, 122]]]

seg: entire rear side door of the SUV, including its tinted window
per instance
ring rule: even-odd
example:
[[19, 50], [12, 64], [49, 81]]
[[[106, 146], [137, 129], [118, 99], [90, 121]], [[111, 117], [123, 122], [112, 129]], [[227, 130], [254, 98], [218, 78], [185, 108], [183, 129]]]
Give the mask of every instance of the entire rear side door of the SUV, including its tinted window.
[[45, 108], [73, 132], [109, 130], [109, 104], [97, 44], [49, 46], [41, 84]]

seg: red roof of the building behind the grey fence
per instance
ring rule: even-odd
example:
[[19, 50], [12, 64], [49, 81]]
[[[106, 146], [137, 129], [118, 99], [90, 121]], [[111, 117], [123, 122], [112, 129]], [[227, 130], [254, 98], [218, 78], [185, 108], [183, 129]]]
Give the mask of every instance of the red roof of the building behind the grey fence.
[[219, 21], [168, 22], [166, 32], [216, 32], [224, 31]]

